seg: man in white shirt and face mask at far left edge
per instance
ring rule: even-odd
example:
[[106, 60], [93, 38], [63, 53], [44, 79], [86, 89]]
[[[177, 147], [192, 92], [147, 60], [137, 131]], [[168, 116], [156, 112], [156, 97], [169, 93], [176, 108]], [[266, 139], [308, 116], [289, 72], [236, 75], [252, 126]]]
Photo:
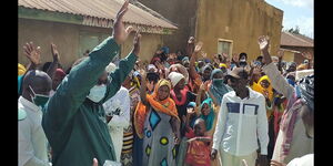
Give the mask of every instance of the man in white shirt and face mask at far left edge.
[[42, 107], [52, 87], [50, 76], [38, 70], [23, 79], [19, 108], [19, 166], [49, 166], [47, 137], [41, 126]]

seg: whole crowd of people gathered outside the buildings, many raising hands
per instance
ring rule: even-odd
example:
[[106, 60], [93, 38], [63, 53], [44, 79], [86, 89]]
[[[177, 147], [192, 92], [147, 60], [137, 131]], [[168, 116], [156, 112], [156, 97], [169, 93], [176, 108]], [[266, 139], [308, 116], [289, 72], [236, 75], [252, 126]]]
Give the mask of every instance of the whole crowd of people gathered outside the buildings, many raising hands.
[[[112, 37], [64, 72], [40, 62], [27, 43], [19, 64], [19, 166], [295, 166], [313, 165], [313, 56], [299, 66], [283, 52], [250, 61], [202, 53], [193, 37], [184, 53], [159, 49], [140, 61], [141, 34], [118, 62], [124, 2]], [[112, 165], [111, 164], [111, 165]]]

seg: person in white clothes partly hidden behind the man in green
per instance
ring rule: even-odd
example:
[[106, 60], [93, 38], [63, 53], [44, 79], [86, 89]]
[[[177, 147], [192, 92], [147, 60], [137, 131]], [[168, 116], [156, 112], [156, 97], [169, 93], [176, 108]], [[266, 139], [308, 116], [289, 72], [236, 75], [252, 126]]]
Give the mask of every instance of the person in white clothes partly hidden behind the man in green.
[[[110, 63], [107, 72], [113, 72], [115, 65]], [[130, 79], [129, 76], [127, 80]], [[124, 82], [127, 82], [127, 80]], [[120, 90], [103, 104], [109, 133], [114, 146], [117, 162], [120, 162], [121, 149], [123, 145], [123, 129], [130, 125], [130, 93], [129, 90], [121, 86]]]

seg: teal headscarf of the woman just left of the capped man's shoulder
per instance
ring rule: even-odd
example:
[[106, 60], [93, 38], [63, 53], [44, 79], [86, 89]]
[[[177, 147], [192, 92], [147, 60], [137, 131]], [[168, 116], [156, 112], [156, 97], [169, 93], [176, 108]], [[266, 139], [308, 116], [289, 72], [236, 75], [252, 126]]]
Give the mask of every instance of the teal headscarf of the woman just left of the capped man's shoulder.
[[[211, 80], [213, 80], [213, 76], [218, 73], [223, 73], [223, 71], [220, 70], [220, 69], [213, 70], [212, 74], [211, 74]], [[224, 84], [224, 83], [215, 84], [214, 81], [213, 81], [213, 83], [211, 85], [211, 92], [214, 95], [214, 97], [216, 98], [216, 102], [218, 102], [219, 105], [221, 105], [223, 95], [225, 93], [230, 92], [230, 91], [232, 91], [232, 89], [229, 85]]]

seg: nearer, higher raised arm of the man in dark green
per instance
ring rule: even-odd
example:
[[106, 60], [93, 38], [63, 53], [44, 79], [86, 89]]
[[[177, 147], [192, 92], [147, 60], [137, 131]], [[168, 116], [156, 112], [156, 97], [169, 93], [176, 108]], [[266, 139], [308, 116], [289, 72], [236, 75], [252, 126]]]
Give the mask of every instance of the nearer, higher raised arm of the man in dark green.
[[125, 1], [117, 14], [113, 37], [109, 37], [89, 53], [89, 58], [75, 65], [59, 85], [54, 95], [46, 105], [43, 128], [57, 131], [64, 127], [78, 108], [84, 102], [90, 89], [93, 87], [105, 66], [119, 53], [119, 44], [124, 42], [131, 29], [127, 30], [122, 23], [122, 17], [128, 10], [129, 1]]

